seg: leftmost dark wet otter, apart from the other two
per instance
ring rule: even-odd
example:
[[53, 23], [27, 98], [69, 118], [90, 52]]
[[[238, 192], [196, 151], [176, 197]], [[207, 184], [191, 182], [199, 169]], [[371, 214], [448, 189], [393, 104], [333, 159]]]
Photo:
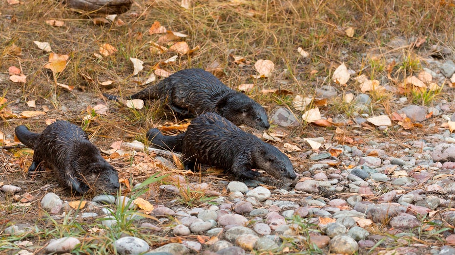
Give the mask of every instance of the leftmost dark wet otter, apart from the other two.
[[34, 150], [29, 177], [44, 162], [72, 192], [82, 195], [92, 187], [114, 193], [120, 188], [117, 170], [104, 160], [82, 128], [67, 121], [56, 121], [41, 134], [32, 133], [23, 125], [16, 127], [15, 133], [22, 144]]

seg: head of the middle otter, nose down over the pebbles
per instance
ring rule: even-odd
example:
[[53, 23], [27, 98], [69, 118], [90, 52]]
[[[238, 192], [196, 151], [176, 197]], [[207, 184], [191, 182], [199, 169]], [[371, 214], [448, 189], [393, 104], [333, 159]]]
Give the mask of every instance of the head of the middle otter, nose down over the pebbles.
[[253, 154], [253, 161], [257, 168], [266, 171], [280, 181], [292, 182], [297, 175], [288, 156], [265, 143], [265, 146]]

